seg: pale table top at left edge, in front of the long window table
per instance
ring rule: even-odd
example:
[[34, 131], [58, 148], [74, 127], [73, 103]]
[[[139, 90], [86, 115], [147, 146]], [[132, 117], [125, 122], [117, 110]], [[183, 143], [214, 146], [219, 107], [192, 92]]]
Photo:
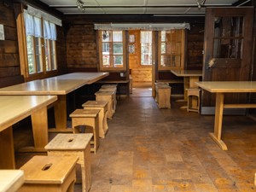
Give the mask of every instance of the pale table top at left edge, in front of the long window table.
[[55, 101], [57, 96], [0, 96], [0, 131]]

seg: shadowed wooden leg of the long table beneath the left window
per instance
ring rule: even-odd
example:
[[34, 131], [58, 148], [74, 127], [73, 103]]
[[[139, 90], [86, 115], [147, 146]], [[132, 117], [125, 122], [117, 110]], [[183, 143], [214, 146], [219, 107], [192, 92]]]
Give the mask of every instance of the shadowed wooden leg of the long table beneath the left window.
[[55, 106], [55, 128], [49, 129], [49, 132], [73, 132], [67, 130], [67, 96], [59, 95]]

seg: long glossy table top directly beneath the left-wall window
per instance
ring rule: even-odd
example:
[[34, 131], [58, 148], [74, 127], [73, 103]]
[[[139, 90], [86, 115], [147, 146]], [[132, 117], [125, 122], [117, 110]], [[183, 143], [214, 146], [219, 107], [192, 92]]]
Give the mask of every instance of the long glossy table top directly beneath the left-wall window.
[[0, 95], [67, 95], [84, 84], [93, 84], [109, 73], [68, 73], [0, 89]]

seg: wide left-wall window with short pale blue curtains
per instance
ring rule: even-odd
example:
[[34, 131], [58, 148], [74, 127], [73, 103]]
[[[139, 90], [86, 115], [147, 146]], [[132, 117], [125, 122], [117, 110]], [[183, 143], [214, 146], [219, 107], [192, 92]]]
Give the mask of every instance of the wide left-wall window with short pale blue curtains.
[[[24, 12], [24, 66], [21, 73], [26, 79], [44, 76], [57, 69], [56, 61], [56, 30], [55, 24]], [[23, 62], [22, 62], [23, 63]], [[37, 79], [37, 78], [34, 78]]]

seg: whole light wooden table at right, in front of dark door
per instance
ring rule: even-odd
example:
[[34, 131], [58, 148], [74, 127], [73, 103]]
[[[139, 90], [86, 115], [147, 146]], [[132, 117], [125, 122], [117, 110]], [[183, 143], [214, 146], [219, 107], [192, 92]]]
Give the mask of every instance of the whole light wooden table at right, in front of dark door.
[[216, 93], [214, 133], [210, 133], [210, 137], [220, 148], [227, 150], [226, 144], [221, 140], [224, 108], [256, 108], [256, 104], [224, 104], [224, 94], [256, 92], [256, 81], [204, 81], [195, 84], [204, 90]]

